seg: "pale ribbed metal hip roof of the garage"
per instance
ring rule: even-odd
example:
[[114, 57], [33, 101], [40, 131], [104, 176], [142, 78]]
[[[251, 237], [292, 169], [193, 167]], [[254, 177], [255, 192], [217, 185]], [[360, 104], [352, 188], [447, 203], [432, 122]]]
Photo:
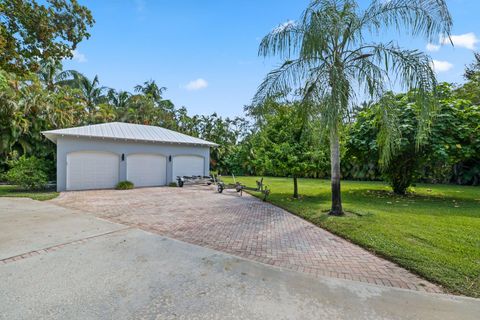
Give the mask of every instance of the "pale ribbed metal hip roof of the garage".
[[187, 144], [215, 147], [216, 143], [195, 138], [180, 132], [162, 127], [146, 126], [124, 122], [93, 124], [83, 127], [43, 131], [42, 134], [53, 142], [58, 137], [87, 137], [130, 141], [161, 142], [171, 144]]

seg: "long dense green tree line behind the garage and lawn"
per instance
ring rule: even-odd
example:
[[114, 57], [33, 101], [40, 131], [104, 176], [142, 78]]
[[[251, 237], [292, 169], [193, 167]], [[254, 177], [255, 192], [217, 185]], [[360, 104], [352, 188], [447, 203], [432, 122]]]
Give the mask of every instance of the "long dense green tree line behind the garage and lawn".
[[[480, 56], [477, 55], [477, 59]], [[355, 109], [341, 141], [342, 177], [392, 181], [404, 193], [415, 181], [480, 183], [480, 62], [466, 71], [466, 83], [438, 85], [438, 110], [426, 142], [418, 148], [418, 113], [411, 92], [385, 94], [379, 102]], [[109, 121], [157, 125], [220, 145], [212, 149], [211, 168], [221, 174], [327, 178], [330, 176], [328, 137], [317, 119], [300, 102], [270, 99], [245, 107], [245, 117], [217, 114], [188, 115], [164, 98], [166, 88], [155, 81], [135, 86], [134, 92], [101, 86], [60, 64], [42, 64], [37, 74], [18, 76], [0, 71], [0, 168], [20, 155], [49, 162], [54, 178], [55, 146], [41, 131]], [[472, 101], [473, 100], [473, 101]], [[376, 109], [389, 106], [401, 128], [399, 150], [391, 165], [381, 168]], [[402, 180], [402, 181], [397, 181]], [[295, 187], [294, 196], [298, 196]]]

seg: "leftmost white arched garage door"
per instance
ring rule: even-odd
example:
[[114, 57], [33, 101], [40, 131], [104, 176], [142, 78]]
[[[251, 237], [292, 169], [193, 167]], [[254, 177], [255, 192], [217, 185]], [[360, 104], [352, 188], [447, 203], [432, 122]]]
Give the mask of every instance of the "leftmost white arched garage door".
[[119, 159], [114, 153], [72, 152], [67, 155], [67, 190], [113, 188], [118, 183]]

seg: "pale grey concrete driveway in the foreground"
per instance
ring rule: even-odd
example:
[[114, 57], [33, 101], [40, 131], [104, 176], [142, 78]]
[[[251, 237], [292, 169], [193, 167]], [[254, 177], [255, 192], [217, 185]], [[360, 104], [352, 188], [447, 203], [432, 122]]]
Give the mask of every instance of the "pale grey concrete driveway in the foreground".
[[0, 319], [477, 319], [479, 300], [285, 270], [0, 198]]

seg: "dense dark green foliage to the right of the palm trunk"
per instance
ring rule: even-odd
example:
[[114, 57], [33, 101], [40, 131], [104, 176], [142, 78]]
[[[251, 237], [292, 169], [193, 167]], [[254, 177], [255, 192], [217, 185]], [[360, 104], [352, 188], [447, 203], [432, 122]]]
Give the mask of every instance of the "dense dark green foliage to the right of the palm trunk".
[[[477, 87], [480, 88], [480, 87]], [[457, 89], [458, 90], [458, 89]], [[474, 184], [480, 182], [480, 108], [459, 99], [452, 85], [437, 87], [437, 111], [425, 143], [416, 145], [418, 113], [412, 93], [387, 94], [383, 100], [363, 108], [349, 126], [344, 173], [354, 179], [385, 178], [398, 194], [405, 194], [414, 181]], [[380, 147], [376, 139], [381, 119], [375, 109], [389, 104], [399, 128], [398, 149], [392, 161], [380, 167]]]

